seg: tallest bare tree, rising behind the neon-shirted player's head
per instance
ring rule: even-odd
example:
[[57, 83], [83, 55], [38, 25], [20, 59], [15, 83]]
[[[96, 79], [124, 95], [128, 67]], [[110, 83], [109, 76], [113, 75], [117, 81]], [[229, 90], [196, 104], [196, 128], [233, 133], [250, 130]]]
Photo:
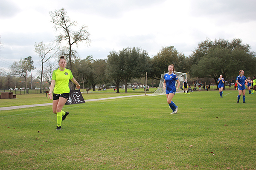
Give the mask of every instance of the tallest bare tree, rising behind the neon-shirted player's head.
[[68, 44], [68, 66], [72, 70], [72, 45], [76, 44], [78, 47], [78, 42], [85, 41], [86, 43], [90, 42], [89, 32], [87, 31], [87, 26], [82, 25], [78, 31], [73, 31], [73, 27], [77, 26], [76, 21], [71, 21], [67, 16], [67, 12], [64, 8], [59, 9], [58, 11], [50, 11], [50, 16], [52, 17], [52, 23], [56, 31], [61, 31], [57, 36], [58, 42], [66, 40]]

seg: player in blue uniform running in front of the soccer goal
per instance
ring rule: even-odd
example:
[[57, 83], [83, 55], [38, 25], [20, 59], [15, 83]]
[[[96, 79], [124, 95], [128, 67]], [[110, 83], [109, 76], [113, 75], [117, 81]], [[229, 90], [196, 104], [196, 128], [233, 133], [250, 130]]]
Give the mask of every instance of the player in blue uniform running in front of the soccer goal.
[[[169, 107], [172, 109], [172, 113], [177, 113], [178, 107], [172, 102], [172, 98], [174, 97], [176, 90], [179, 91], [178, 87], [180, 87], [180, 81], [175, 74], [174, 65], [171, 64], [168, 66], [168, 73], [164, 75], [163, 88], [166, 88], [166, 97]], [[175, 83], [177, 82], [177, 88]]]

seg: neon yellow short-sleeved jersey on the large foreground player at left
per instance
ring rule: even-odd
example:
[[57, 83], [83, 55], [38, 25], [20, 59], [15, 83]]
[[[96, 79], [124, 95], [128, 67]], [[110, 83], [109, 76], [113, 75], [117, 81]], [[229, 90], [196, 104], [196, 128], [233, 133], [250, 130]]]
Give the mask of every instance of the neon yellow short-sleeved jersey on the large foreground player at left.
[[68, 83], [70, 79], [73, 79], [73, 74], [69, 69], [65, 68], [64, 71], [56, 69], [52, 72], [52, 79], [55, 80], [55, 86], [53, 89], [54, 94], [63, 94], [70, 92]]

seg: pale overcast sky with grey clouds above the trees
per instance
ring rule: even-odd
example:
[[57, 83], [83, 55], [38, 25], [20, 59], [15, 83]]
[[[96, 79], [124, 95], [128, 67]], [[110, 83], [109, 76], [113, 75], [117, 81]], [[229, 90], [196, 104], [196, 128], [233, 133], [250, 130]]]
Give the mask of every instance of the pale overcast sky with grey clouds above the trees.
[[127, 47], [153, 57], [166, 46], [188, 57], [207, 38], [239, 38], [256, 51], [256, 0], [0, 0], [0, 68], [28, 56], [38, 68], [35, 42], [55, 39], [49, 11], [61, 8], [88, 27], [90, 45], [77, 49], [82, 59]]

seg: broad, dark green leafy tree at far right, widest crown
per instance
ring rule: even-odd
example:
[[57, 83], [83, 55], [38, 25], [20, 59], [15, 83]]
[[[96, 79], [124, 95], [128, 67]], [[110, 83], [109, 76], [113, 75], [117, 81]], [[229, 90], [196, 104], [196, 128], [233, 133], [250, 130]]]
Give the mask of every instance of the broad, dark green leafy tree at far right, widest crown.
[[250, 45], [242, 44], [240, 39], [233, 39], [231, 42], [223, 39], [213, 42], [207, 39], [198, 44], [198, 48], [190, 57], [190, 62], [192, 77], [213, 78], [216, 85], [220, 74], [228, 80], [236, 77], [241, 69], [254, 74], [256, 67], [254, 52], [250, 52]]

